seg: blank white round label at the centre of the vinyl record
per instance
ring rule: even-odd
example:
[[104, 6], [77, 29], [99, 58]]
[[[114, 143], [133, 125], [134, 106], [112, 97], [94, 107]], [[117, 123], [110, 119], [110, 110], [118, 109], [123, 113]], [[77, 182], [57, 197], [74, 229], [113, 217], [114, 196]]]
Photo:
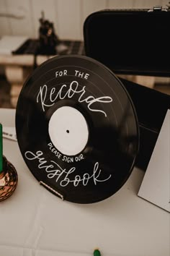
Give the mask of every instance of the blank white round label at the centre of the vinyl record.
[[64, 155], [77, 155], [86, 147], [89, 129], [86, 119], [76, 108], [63, 106], [50, 118], [50, 140]]

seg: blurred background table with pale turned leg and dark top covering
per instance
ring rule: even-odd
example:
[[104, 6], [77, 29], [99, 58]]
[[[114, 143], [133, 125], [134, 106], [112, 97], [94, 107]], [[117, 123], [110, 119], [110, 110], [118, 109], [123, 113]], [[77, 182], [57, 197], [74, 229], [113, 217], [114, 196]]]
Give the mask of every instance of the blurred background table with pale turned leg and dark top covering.
[[84, 54], [81, 40], [61, 40], [56, 55], [38, 53], [38, 43], [38, 40], [24, 36], [4, 36], [0, 39], [0, 66], [4, 67], [6, 80], [11, 85], [10, 101], [14, 108], [22, 85], [33, 69], [58, 54]]

